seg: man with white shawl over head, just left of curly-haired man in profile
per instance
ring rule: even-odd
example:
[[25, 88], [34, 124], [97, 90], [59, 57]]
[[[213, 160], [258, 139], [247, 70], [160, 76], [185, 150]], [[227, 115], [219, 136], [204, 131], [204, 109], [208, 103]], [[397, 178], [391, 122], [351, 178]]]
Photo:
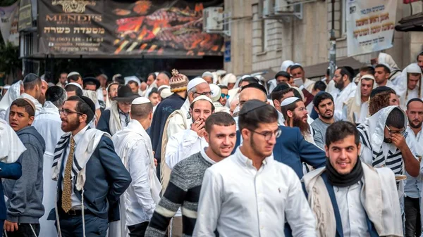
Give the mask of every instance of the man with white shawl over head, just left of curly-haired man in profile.
[[361, 124], [366, 120], [369, 114], [369, 98], [374, 83], [372, 75], [364, 75], [361, 77], [355, 89], [355, 96], [345, 102], [343, 107], [343, 118], [354, 124]]

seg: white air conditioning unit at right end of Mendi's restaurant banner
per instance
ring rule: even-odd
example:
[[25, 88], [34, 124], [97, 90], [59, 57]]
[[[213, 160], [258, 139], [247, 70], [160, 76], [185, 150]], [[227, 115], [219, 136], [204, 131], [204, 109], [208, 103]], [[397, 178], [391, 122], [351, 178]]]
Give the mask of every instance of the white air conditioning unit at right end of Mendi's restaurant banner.
[[223, 8], [209, 7], [203, 9], [203, 32], [221, 33], [223, 31]]

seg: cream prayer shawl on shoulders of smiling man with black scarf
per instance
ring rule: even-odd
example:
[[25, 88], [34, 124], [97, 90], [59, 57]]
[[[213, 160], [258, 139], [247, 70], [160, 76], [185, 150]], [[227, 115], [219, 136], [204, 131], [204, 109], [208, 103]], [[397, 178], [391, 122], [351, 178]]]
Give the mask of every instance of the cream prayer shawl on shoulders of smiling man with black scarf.
[[[326, 167], [316, 169], [302, 178], [308, 193], [308, 202], [317, 216], [317, 236], [336, 236], [336, 220], [331, 198], [321, 174]], [[362, 162], [363, 185], [360, 200], [379, 236], [403, 236], [400, 203], [395, 175], [388, 168], [374, 169]], [[341, 217], [342, 218], [342, 217]]]

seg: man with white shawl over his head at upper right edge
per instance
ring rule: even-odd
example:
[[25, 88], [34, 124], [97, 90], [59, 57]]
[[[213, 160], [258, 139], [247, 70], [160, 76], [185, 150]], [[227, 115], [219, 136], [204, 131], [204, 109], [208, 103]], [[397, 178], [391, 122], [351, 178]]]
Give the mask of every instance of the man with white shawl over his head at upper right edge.
[[412, 98], [422, 98], [422, 70], [417, 63], [411, 63], [401, 72], [396, 91], [400, 97], [400, 106], [405, 110]]

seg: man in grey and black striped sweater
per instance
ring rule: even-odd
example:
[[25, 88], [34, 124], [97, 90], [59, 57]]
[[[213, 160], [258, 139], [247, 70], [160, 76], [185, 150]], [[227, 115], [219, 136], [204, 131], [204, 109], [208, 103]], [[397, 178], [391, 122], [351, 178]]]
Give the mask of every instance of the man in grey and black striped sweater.
[[183, 236], [192, 236], [204, 172], [231, 155], [236, 141], [235, 120], [228, 113], [210, 115], [205, 129], [204, 139], [209, 146], [173, 167], [169, 184], [154, 210], [145, 236], [165, 236], [169, 222], [179, 207], [183, 215]]

